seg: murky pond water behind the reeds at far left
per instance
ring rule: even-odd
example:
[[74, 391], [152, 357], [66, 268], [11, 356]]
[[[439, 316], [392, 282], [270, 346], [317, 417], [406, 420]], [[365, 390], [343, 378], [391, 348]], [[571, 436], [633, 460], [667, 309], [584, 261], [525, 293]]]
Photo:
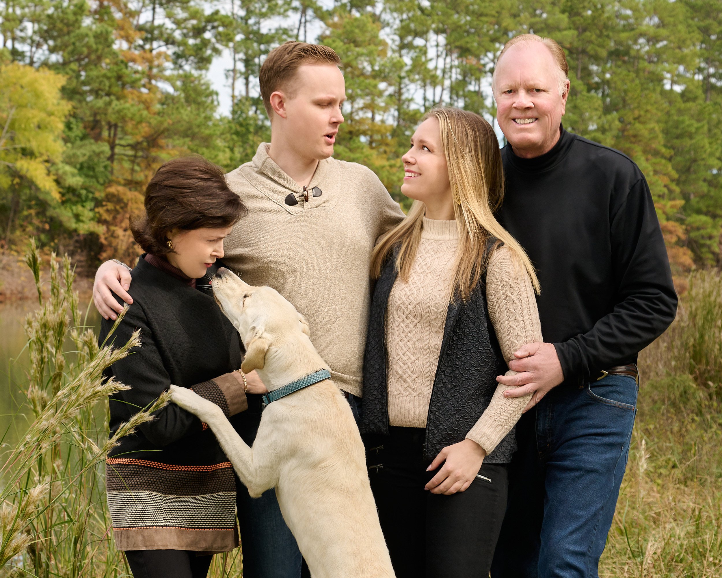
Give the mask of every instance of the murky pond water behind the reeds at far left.
[[[87, 310], [87, 325], [100, 329], [100, 314], [94, 306], [81, 303], [82, 315]], [[29, 363], [23, 323], [27, 314], [38, 308], [38, 301], [12, 301], [0, 303], [0, 439], [4, 444], [14, 446], [22, 436], [27, 421], [25, 395]], [[66, 345], [72, 348], [72, 343]]]

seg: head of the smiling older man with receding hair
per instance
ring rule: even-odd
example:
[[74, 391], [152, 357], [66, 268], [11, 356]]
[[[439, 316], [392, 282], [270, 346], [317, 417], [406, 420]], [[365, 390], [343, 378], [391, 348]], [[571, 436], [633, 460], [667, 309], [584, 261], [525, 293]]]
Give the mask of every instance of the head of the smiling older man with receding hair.
[[544, 155], [559, 140], [568, 70], [564, 51], [554, 40], [524, 34], [504, 46], [492, 88], [497, 121], [516, 155]]

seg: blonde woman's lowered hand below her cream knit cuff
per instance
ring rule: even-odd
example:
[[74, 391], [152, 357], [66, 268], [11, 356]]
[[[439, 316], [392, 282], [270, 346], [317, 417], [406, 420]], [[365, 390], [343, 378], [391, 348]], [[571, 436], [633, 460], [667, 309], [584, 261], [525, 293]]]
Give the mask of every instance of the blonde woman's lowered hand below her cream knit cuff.
[[476, 441], [465, 439], [442, 449], [434, 458], [426, 471], [435, 470], [441, 463], [444, 465], [436, 475], [426, 484], [425, 490], [431, 493], [443, 493], [451, 496], [452, 493], [463, 492], [471, 486], [476, 475], [484, 463], [487, 452]]

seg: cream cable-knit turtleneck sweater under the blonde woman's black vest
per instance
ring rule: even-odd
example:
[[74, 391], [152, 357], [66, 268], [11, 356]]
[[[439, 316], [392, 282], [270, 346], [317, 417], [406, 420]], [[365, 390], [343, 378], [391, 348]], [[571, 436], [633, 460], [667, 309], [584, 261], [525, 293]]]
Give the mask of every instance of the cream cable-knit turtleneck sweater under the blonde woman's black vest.
[[[388, 418], [391, 426], [426, 427], [436, 366], [451, 296], [458, 245], [456, 221], [424, 219], [409, 282], [397, 279], [388, 298]], [[511, 251], [494, 251], [487, 271], [487, 303], [504, 358], [541, 341], [534, 288]], [[508, 371], [507, 375], [515, 374]], [[492, 401], [466, 437], [489, 454], [521, 417], [529, 397], [506, 399], [499, 385]]]

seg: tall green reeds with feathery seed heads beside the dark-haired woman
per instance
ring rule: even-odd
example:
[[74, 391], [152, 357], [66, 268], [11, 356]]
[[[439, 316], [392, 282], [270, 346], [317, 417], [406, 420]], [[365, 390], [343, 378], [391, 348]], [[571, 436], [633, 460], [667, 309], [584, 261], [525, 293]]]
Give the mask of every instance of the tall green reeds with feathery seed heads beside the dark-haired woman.
[[103, 370], [138, 346], [138, 336], [121, 348], [99, 347], [79, 316], [69, 259], [51, 256], [47, 300], [35, 243], [27, 264], [39, 301], [25, 322], [30, 367], [24, 392], [32, 415], [25, 435], [0, 461], [0, 569], [39, 578], [127, 576], [108, 530], [103, 460], [168, 398], [109, 438], [108, 395], [127, 387], [104, 381]]

